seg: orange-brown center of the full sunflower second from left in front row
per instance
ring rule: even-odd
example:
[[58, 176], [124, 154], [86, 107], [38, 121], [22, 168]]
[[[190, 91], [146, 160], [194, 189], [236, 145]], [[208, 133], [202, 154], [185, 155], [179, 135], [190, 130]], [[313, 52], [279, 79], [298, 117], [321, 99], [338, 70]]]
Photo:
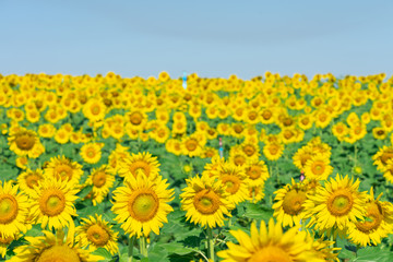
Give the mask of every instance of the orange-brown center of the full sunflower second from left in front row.
[[60, 190], [48, 189], [39, 199], [39, 209], [47, 216], [59, 215], [66, 209], [66, 198]]

